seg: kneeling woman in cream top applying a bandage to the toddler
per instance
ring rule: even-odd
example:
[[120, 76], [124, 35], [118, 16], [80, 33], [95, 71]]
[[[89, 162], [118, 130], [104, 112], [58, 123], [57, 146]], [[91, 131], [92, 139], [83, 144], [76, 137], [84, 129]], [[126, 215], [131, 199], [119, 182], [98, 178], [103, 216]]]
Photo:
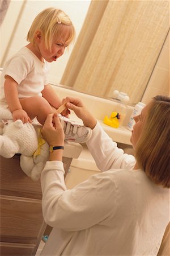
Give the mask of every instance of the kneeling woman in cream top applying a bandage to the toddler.
[[170, 98], [156, 96], [134, 118], [136, 159], [117, 148], [80, 100], [66, 101], [92, 129], [87, 146], [102, 172], [66, 189], [64, 134], [57, 115], [48, 115], [42, 135], [60, 149], [41, 174], [44, 219], [53, 227], [41, 255], [156, 255], [169, 221]]

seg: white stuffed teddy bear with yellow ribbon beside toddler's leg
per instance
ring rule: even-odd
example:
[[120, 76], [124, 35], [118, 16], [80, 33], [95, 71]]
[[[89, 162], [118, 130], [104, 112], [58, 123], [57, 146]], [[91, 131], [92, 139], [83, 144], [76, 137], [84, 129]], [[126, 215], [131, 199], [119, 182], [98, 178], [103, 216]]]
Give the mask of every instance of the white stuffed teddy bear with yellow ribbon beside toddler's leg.
[[10, 110], [0, 107], [0, 155], [20, 155], [20, 167], [38, 180], [49, 156], [49, 145], [41, 137], [41, 125], [13, 121]]

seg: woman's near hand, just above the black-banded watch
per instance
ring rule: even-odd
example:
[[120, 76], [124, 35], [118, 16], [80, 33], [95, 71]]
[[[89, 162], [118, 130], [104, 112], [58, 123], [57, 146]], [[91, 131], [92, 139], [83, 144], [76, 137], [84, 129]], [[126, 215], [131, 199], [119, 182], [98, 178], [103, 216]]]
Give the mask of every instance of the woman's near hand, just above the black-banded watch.
[[50, 146], [63, 146], [65, 134], [58, 114], [49, 114], [47, 116], [41, 134]]

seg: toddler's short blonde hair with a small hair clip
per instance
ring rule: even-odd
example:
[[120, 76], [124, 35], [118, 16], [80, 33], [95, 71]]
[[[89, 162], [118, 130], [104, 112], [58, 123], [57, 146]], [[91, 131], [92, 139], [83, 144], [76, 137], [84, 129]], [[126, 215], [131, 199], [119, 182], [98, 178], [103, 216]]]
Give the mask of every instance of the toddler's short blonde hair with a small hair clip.
[[[33, 20], [28, 31], [27, 41], [35, 44], [35, 34], [40, 31], [45, 40], [47, 49], [51, 49], [54, 38], [62, 39], [65, 36], [65, 44], [68, 46], [75, 38], [75, 29], [69, 16], [62, 10], [53, 7], [47, 8], [39, 13]], [[66, 32], [66, 33], [65, 33]]]

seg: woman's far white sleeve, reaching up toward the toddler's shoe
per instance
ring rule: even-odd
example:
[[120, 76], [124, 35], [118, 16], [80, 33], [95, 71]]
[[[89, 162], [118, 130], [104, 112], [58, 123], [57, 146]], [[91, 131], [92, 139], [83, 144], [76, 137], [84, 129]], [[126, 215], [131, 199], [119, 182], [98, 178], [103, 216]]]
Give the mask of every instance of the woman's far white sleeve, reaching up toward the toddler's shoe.
[[124, 154], [124, 151], [117, 147], [117, 143], [113, 142], [108, 134], [105, 133], [99, 122], [92, 130], [92, 136], [87, 142], [87, 147], [95, 159], [96, 166], [101, 171], [107, 171], [112, 168], [131, 169], [135, 165], [134, 156]]

